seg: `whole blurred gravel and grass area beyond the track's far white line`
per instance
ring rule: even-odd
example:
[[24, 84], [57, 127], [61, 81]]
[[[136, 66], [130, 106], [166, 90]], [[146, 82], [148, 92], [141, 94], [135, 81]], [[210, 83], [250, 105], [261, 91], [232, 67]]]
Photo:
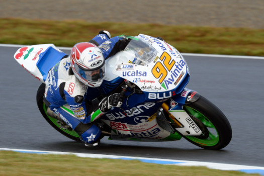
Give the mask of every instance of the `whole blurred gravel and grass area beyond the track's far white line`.
[[100, 30], [162, 37], [182, 53], [264, 56], [262, 0], [0, 0], [0, 43], [72, 47]]

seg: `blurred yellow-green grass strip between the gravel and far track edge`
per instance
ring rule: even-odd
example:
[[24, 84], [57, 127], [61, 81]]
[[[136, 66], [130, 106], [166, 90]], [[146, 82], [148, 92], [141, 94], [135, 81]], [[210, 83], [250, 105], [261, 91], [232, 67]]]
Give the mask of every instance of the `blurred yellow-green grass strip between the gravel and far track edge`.
[[112, 36], [159, 36], [183, 53], [264, 56], [264, 29], [26, 19], [0, 19], [0, 26], [0, 43], [6, 44], [53, 43], [72, 47], [89, 41], [104, 29]]

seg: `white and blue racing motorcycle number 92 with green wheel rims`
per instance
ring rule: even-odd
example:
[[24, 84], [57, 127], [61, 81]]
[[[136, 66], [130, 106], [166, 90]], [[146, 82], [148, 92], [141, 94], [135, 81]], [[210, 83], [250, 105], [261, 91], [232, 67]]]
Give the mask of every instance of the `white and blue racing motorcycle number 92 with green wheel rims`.
[[[112, 108], [95, 122], [102, 130], [101, 137], [130, 141], [174, 141], [184, 137], [205, 149], [227, 146], [232, 138], [230, 123], [214, 104], [186, 87], [190, 73], [181, 53], [162, 39], [144, 34], [131, 38], [123, 51], [106, 60], [102, 85], [87, 89], [87, 103], [91, 105], [114, 93], [121, 93], [124, 99], [120, 108]], [[61, 134], [80, 141], [65, 118], [48, 115], [43, 101], [48, 71], [65, 57], [67, 54], [53, 44], [22, 47], [14, 55], [42, 82], [37, 91], [42, 116]], [[65, 69], [69, 67], [65, 65]], [[72, 113], [68, 105], [63, 108]]]

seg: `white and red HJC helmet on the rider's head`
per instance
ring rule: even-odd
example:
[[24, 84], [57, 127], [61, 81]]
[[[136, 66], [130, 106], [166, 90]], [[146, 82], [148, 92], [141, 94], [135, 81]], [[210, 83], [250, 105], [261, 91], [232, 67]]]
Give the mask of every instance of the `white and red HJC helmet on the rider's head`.
[[70, 62], [74, 75], [83, 84], [99, 87], [105, 77], [105, 58], [93, 43], [82, 42], [73, 46]]

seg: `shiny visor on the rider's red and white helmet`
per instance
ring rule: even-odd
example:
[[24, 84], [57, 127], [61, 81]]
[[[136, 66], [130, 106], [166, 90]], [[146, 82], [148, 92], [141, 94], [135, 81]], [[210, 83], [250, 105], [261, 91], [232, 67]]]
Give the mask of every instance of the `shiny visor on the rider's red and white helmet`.
[[105, 65], [96, 69], [83, 69], [74, 63], [74, 68], [78, 75], [86, 81], [100, 81], [105, 76]]

